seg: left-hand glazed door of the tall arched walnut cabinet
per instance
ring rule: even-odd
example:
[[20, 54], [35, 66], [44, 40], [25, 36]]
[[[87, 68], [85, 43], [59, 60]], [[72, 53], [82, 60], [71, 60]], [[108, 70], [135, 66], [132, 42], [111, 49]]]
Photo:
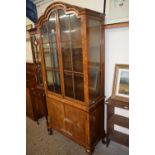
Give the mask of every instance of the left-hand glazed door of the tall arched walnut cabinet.
[[56, 33], [56, 11], [52, 12], [49, 20], [41, 27], [42, 48], [44, 55], [44, 68], [46, 89], [48, 92], [61, 94], [60, 69]]

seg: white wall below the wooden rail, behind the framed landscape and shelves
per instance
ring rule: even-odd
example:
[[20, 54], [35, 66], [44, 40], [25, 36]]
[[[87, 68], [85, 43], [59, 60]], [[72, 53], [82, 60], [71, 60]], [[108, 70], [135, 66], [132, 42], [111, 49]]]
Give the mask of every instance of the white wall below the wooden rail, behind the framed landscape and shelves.
[[[105, 30], [105, 96], [112, 94], [115, 64], [129, 64], [129, 28], [112, 28]], [[105, 107], [105, 116], [106, 114]], [[129, 117], [128, 110], [115, 109], [115, 113]], [[106, 117], [105, 117], [106, 129]], [[115, 126], [115, 130], [128, 134], [128, 129]]]

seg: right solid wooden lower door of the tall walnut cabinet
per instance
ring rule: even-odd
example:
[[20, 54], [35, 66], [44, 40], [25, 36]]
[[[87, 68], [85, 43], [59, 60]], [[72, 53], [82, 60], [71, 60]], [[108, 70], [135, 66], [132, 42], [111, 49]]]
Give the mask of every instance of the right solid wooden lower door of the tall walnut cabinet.
[[85, 112], [65, 106], [65, 126], [67, 133], [81, 144], [86, 143], [87, 115]]

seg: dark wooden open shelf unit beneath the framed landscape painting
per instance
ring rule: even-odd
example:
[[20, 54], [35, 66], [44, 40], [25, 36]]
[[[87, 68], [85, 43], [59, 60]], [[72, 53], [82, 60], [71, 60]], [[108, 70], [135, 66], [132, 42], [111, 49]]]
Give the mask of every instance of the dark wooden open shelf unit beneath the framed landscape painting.
[[129, 118], [115, 114], [115, 108], [129, 109], [129, 104], [124, 101], [109, 98], [107, 105], [107, 146], [110, 140], [129, 146], [129, 135], [114, 130], [114, 124], [129, 128]]

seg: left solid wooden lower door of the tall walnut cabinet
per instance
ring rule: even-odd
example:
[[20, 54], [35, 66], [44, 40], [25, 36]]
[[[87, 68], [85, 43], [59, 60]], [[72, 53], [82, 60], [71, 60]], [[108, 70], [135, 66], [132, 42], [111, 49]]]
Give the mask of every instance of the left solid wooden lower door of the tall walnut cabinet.
[[64, 131], [64, 108], [61, 102], [47, 98], [49, 125]]

